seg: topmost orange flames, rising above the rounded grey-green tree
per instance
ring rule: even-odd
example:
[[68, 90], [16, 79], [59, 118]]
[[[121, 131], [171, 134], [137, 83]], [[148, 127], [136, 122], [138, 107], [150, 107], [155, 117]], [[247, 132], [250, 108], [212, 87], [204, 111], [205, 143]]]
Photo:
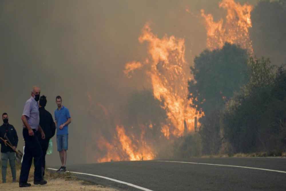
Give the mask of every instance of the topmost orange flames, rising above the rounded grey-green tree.
[[250, 13], [252, 5], [236, 3], [234, 0], [222, 0], [219, 7], [227, 10], [225, 19], [215, 22], [211, 14], [201, 10], [207, 30], [207, 48], [210, 50], [222, 48], [225, 42], [239, 44], [242, 48], [253, 53], [252, 43], [249, 38], [251, 27]]

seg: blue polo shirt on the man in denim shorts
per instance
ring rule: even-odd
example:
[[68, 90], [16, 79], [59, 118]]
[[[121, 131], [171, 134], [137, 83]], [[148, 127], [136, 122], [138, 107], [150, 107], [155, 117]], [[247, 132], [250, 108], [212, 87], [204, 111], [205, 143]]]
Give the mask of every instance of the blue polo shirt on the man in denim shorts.
[[55, 120], [57, 121], [57, 135], [65, 135], [69, 134], [68, 125], [64, 126], [63, 129], [59, 129], [59, 126], [67, 121], [67, 119], [71, 118], [69, 115], [69, 110], [61, 106], [61, 109], [55, 110]]

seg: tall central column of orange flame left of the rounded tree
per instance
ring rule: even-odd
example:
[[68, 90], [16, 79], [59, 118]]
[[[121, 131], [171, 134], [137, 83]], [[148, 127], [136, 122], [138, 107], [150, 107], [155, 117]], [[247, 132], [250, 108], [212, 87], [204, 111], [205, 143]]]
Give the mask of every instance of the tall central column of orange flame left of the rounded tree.
[[[178, 137], [186, 131], [193, 131], [194, 117], [201, 117], [201, 115], [189, 106], [191, 101], [187, 99], [189, 70], [188, 63], [185, 61], [184, 39], [177, 39], [174, 36], [168, 38], [166, 35], [159, 39], [151, 32], [147, 23], [139, 37], [140, 43], [145, 41], [148, 42], [150, 59], [146, 59], [148, 62], [140, 64], [151, 65], [146, 73], [151, 78], [154, 96], [156, 99], [164, 101], [163, 108], [167, 111], [168, 118], [174, 127], [171, 129], [170, 126], [162, 126], [161, 132], [165, 137], [169, 137], [167, 132]], [[124, 72], [129, 74], [131, 70]]]

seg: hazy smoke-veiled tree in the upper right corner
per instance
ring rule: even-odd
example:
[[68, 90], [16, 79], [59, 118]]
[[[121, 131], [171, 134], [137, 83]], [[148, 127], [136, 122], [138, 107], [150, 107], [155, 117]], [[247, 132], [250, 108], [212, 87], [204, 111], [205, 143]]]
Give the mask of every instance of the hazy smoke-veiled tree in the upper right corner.
[[257, 57], [280, 66], [286, 63], [286, 1], [259, 1], [251, 12], [249, 35]]

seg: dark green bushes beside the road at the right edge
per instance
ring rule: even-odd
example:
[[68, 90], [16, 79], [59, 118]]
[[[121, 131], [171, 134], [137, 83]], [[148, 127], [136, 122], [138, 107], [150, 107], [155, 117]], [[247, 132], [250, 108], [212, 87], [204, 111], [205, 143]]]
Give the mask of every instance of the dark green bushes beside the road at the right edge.
[[249, 66], [250, 81], [224, 111], [224, 138], [235, 153], [267, 151], [277, 155], [286, 138], [286, 70], [280, 67], [275, 76], [270, 61], [263, 58], [250, 58]]

